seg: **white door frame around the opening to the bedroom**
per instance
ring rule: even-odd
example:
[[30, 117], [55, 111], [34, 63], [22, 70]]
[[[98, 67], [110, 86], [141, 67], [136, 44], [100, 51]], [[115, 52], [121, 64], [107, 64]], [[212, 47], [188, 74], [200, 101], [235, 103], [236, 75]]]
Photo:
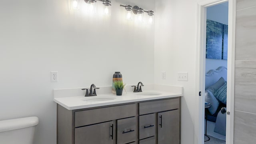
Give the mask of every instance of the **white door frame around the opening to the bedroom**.
[[[234, 143], [234, 68], [235, 68], [235, 20], [236, 0], [203, 0], [197, 3], [197, 41], [196, 41], [196, 110], [194, 144], [204, 144], [204, 90], [206, 55], [206, 8], [228, 3], [228, 72], [227, 72], [227, 115], [226, 144]], [[202, 96], [199, 96], [202, 92]]]

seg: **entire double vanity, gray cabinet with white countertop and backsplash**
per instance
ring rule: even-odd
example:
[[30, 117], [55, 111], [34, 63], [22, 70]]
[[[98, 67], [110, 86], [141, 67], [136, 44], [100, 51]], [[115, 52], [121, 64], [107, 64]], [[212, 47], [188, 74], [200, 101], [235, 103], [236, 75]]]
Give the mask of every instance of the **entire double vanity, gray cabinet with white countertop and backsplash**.
[[[148, 85], [122, 96], [54, 90], [58, 144], [180, 144], [182, 87]], [[80, 91], [78, 91], [80, 90]]]

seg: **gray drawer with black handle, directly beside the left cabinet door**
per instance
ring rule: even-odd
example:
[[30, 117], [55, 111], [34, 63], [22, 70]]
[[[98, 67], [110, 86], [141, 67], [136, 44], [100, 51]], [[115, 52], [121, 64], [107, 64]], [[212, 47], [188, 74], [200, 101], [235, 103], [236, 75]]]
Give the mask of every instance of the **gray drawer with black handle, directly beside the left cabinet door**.
[[136, 142], [136, 117], [117, 120], [117, 144]]

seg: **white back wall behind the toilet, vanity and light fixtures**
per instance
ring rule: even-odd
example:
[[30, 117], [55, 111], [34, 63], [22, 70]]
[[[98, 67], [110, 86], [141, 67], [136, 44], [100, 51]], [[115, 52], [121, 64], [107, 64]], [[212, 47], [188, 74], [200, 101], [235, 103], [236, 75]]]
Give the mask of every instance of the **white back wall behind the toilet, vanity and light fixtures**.
[[134, 3], [155, 7], [154, 0], [112, 0], [104, 18], [70, 10], [70, 0], [0, 1], [0, 120], [38, 116], [34, 144], [56, 144], [54, 88], [110, 86], [115, 71], [127, 84], [153, 84], [154, 26], [126, 22], [119, 6]]

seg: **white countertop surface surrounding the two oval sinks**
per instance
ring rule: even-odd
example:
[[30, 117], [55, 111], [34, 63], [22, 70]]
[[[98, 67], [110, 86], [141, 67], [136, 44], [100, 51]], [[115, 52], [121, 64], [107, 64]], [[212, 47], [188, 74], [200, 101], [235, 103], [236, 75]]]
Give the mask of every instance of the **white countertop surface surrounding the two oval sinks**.
[[[143, 94], [147, 92], [152, 93], [160, 93], [157, 96], [140, 96], [138, 94]], [[62, 97], [62, 98], [54, 98], [54, 102], [60, 104], [64, 108], [68, 110], [76, 110], [82, 108], [92, 108], [97, 106], [108, 106], [113, 104], [124, 104], [129, 102], [141, 102], [146, 100], [157, 100], [163, 98], [174, 98], [182, 96], [182, 92], [179, 93], [172, 93], [172, 92], [165, 92], [160, 90], [144, 90], [143, 92], [123, 92], [122, 96], [116, 96], [115, 94], [98, 94], [100, 96], [111, 96], [115, 97], [114, 100], [107, 100], [107, 101], [100, 101], [100, 102], [89, 102], [84, 101], [84, 99], [89, 97], [84, 96], [70, 96], [70, 97]], [[93, 98], [97, 98], [97, 96], [92, 96]]]

